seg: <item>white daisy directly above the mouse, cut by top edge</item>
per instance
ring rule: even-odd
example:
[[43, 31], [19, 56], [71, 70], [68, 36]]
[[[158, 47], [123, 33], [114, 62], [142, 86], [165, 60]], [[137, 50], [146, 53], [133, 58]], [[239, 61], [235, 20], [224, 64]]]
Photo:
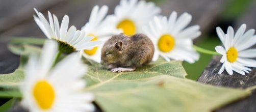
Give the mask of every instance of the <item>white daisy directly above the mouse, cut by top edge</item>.
[[115, 8], [114, 15], [109, 15], [107, 19], [125, 35], [131, 36], [142, 33], [142, 26], [160, 12], [161, 9], [152, 2], [121, 0], [120, 5]]

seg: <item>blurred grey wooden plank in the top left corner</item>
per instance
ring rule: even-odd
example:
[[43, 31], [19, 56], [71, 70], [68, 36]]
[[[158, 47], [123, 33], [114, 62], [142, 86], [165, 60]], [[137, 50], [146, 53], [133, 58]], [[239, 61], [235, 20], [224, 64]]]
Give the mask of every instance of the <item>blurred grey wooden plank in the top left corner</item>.
[[0, 0], [0, 33], [34, 14], [33, 8], [46, 9], [65, 0]]

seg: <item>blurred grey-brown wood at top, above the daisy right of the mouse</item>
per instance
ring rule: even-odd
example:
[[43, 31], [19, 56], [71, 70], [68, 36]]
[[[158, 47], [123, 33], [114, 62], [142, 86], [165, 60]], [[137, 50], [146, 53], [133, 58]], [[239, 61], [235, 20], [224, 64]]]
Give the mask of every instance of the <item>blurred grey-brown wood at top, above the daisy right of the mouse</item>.
[[209, 30], [219, 22], [219, 16], [225, 9], [225, 6], [232, 2], [231, 0], [190, 0], [190, 1], [165, 1], [161, 4], [162, 13], [169, 17], [172, 11], [178, 15], [188, 12], [193, 16], [191, 24], [200, 25], [202, 35], [210, 32]]

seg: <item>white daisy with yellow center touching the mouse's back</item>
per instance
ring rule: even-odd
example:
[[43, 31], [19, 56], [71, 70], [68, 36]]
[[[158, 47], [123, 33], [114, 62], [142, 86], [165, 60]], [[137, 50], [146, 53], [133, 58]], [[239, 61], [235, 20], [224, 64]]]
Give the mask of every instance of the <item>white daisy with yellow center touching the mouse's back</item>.
[[192, 48], [192, 39], [201, 35], [199, 25], [185, 28], [192, 16], [183, 13], [177, 18], [177, 13], [172, 12], [167, 17], [155, 17], [146, 27], [144, 33], [152, 40], [155, 46], [153, 61], [161, 55], [166, 61], [170, 59], [194, 63], [199, 59], [199, 54]]

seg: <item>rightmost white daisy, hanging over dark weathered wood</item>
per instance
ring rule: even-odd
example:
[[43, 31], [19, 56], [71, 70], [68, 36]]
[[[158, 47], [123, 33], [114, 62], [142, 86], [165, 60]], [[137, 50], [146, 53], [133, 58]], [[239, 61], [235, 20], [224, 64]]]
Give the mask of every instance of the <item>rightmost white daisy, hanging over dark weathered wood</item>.
[[233, 75], [233, 71], [245, 75], [245, 72], [251, 71], [248, 67], [256, 67], [256, 61], [249, 59], [256, 57], [256, 49], [248, 49], [256, 43], [256, 36], [253, 36], [255, 30], [250, 29], [245, 32], [245, 29], [246, 24], [242, 24], [234, 34], [233, 27], [229, 26], [227, 34], [224, 34], [220, 27], [216, 27], [217, 34], [224, 45], [224, 48], [215, 47], [215, 50], [223, 55], [220, 60], [223, 64], [219, 74], [225, 69], [229, 75]]

